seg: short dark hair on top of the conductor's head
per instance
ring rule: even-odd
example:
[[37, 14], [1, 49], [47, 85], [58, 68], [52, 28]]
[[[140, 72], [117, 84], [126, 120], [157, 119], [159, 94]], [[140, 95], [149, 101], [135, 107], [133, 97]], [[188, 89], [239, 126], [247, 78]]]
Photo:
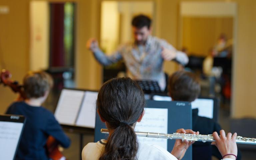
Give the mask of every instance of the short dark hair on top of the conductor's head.
[[151, 19], [148, 16], [140, 14], [138, 16], [133, 17], [132, 19], [133, 27], [140, 29], [147, 26], [147, 28], [149, 29], [150, 25], [151, 25]]

